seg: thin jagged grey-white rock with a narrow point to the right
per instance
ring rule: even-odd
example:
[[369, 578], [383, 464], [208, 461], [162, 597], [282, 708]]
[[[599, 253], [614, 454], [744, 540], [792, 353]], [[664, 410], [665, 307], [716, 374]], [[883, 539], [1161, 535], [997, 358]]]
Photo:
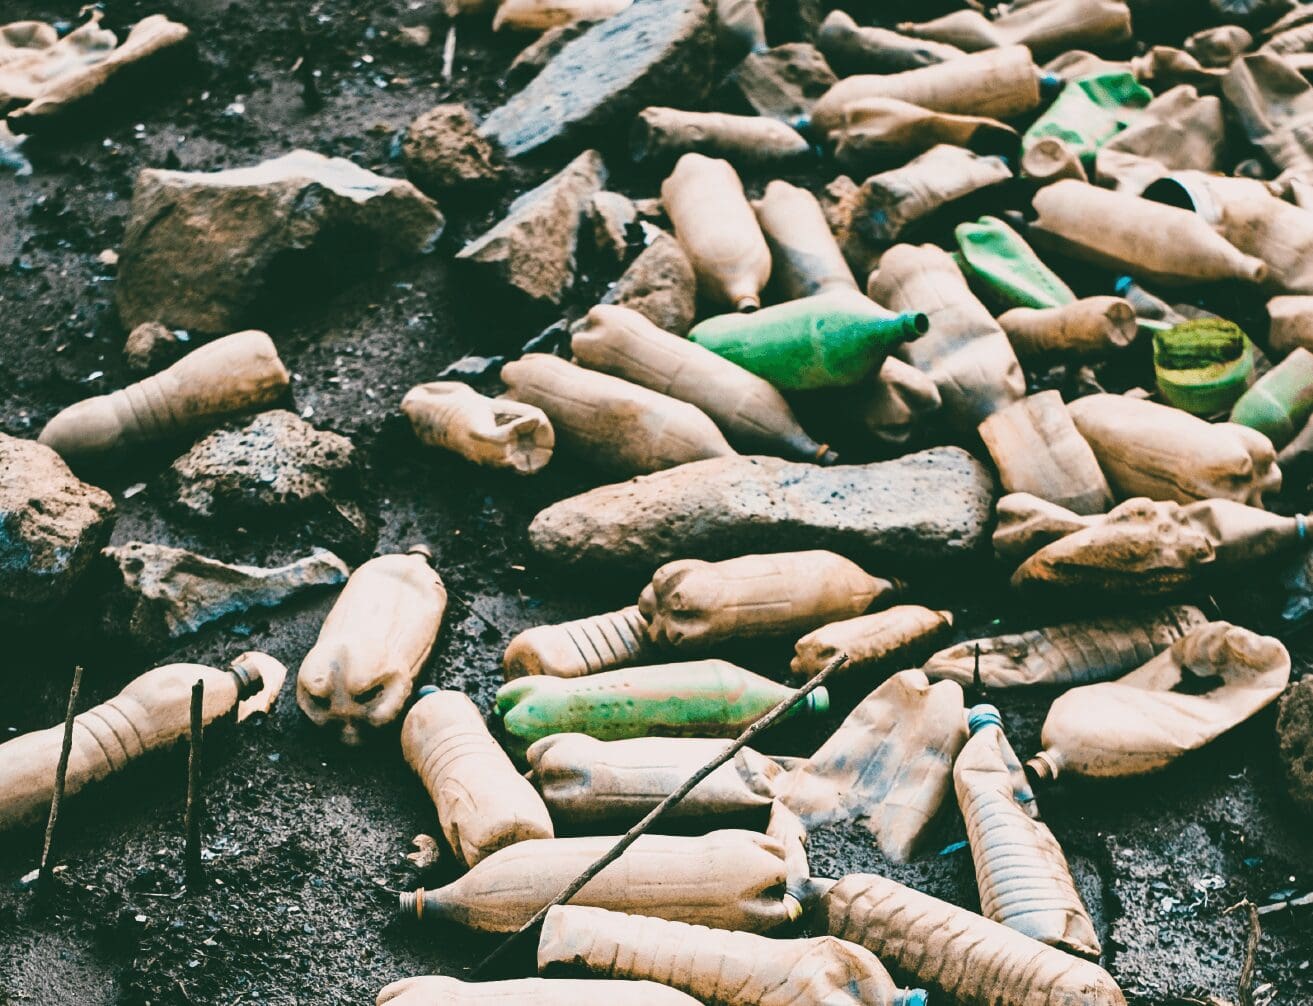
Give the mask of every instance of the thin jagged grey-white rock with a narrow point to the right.
[[159, 646], [230, 615], [274, 608], [311, 587], [345, 583], [351, 570], [316, 549], [286, 566], [230, 566], [186, 549], [129, 541], [105, 549], [118, 583], [106, 621], [116, 634]]

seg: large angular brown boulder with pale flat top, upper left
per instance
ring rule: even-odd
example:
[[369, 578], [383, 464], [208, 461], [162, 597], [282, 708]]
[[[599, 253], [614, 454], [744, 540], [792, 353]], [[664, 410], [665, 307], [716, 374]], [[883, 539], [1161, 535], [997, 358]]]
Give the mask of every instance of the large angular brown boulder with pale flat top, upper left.
[[[116, 302], [125, 326], [231, 332], [289, 295], [432, 250], [437, 205], [408, 181], [297, 150], [249, 168], [137, 176]], [[310, 285], [312, 277], [314, 285]]]

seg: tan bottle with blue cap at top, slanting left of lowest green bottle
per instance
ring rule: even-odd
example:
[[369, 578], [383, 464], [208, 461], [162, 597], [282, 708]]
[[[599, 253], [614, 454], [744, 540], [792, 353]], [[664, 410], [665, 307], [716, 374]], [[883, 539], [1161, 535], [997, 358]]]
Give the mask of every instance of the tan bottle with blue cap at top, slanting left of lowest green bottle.
[[516, 842], [551, 838], [546, 805], [515, 771], [469, 696], [420, 691], [402, 724], [402, 754], [424, 783], [442, 834], [465, 865]]

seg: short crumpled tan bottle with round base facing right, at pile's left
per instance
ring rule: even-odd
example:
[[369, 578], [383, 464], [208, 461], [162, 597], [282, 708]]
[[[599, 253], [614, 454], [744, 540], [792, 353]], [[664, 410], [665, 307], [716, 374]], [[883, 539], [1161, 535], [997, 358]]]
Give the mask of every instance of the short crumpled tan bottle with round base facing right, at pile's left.
[[460, 381], [416, 385], [402, 399], [402, 412], [421, 443], [519, 475], [542, 469], [557, 443], [537, 406], [488, 398]]

